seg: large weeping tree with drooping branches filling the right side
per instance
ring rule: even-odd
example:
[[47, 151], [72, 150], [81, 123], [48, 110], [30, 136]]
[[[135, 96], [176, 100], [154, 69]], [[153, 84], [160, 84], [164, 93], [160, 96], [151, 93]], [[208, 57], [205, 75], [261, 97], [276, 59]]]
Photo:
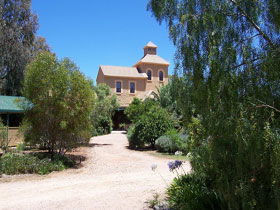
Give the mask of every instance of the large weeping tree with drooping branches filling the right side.
[[279, 8], [278, 0], [148, 5], [177, 47], [173, 92], [193, 169], [229, 209], [280, 208]]

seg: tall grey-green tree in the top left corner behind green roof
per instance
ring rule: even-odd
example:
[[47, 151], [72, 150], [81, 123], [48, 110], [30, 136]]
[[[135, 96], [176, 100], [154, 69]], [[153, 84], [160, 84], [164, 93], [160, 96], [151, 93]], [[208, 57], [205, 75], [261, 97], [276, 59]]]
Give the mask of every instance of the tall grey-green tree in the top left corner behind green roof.
[[0, 0], [0, 94], [20, 94], [37, 28], [31, 0]]

